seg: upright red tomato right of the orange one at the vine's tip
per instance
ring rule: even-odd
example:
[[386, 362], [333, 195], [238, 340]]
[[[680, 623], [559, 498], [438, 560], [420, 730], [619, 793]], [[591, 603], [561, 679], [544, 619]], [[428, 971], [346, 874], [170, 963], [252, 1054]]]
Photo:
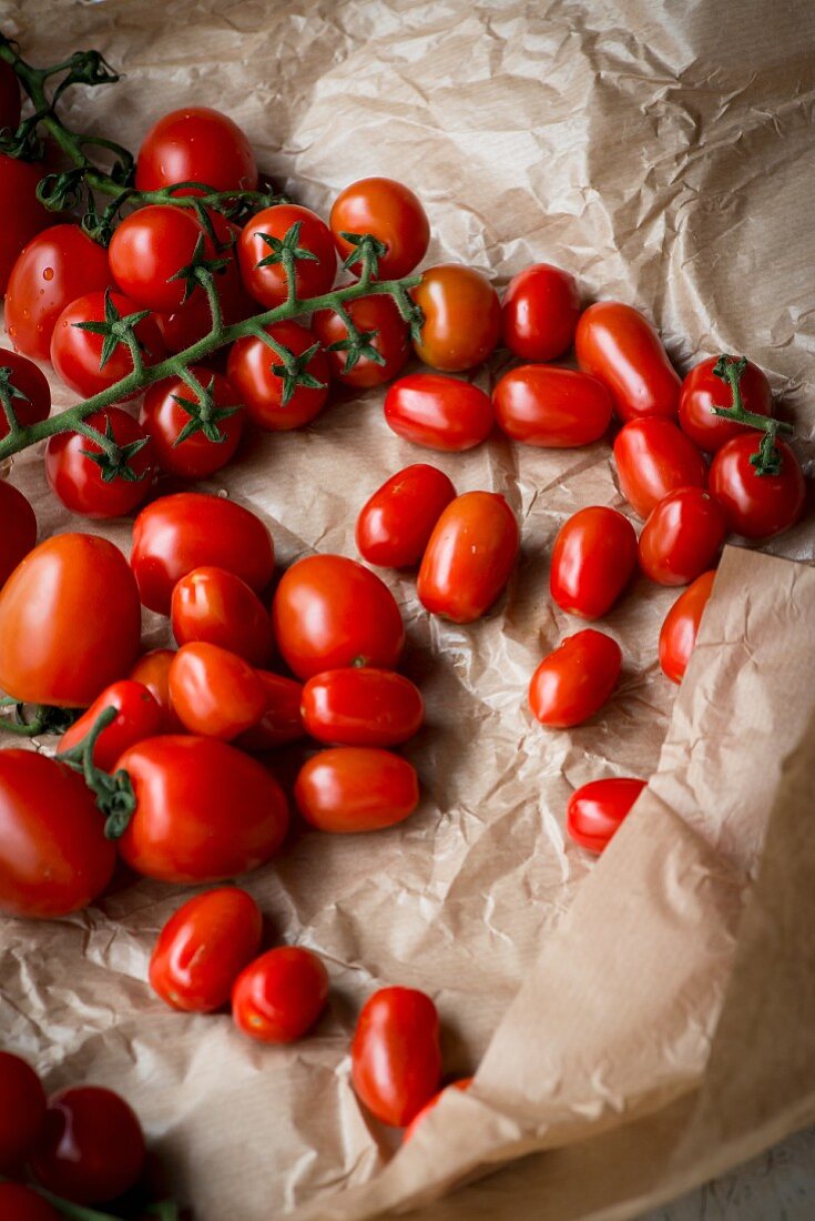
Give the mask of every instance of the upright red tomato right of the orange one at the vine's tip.
[[512, 276], [501, 306], [504, 343], [522, 360], [556, 360], [575, 342], [580, 317], [577, 281], [550, 263]]

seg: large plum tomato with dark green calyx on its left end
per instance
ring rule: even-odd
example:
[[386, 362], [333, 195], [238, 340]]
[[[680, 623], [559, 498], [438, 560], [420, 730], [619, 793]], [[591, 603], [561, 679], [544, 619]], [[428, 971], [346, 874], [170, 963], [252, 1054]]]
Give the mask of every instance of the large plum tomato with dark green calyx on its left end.
[[150, 737], [124, 751], [116, 768], [129, 774], [135, 791], [118, 850], [137, 873], [179, 885], [223, 882], [256, 869], [283, 842], [283, 790], [261, 763], [227, 742]]

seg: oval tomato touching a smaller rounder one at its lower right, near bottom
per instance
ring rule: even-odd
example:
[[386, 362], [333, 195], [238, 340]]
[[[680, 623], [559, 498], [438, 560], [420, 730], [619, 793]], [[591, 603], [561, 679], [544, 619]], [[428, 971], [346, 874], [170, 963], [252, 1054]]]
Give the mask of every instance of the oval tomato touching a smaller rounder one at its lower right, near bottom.
[[150, 984], [167, 1005], [211, 1013], [257, 954], [264, 918], [245, 890], [221, 886], [195, 895], [170, 917], [150, 956]]

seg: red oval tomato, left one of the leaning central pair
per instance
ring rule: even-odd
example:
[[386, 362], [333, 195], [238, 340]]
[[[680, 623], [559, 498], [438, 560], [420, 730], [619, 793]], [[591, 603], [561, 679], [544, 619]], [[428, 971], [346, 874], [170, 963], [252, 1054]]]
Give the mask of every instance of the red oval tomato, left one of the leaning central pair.
[[444, 471], [425, 463], [392, 475], [356, 519], [356, 546], [368, 564], [410, 568], [425, 554], [433, 526], [455, 499]]

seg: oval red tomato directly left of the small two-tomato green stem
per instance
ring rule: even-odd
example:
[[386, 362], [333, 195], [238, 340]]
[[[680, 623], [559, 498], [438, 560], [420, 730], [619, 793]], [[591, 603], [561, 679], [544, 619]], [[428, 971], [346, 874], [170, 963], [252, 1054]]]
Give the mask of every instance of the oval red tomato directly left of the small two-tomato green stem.
[[647, 518], [669, 492], [680, 487], [704, 487], [705, 460], [670, 420], [632, 420], [614, 441], [620, 491], [634, 513]]

